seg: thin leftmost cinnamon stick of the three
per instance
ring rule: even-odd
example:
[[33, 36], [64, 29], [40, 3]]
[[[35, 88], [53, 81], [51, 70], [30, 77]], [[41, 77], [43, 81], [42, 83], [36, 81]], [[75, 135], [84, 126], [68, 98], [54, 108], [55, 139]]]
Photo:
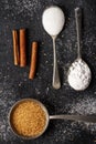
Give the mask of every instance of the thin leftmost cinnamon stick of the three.
[[14, 65], [19, 65], [19, 38], [18, 38], [18, 31], [17, 30], [12, 30], [12, 38], [13, 38]]

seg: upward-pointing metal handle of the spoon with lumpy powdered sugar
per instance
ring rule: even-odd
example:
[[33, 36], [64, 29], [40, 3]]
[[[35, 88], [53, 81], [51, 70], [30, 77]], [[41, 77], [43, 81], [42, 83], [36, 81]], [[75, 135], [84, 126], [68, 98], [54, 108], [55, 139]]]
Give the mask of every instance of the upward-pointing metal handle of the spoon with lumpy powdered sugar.
[[77, 32], [77, 58], [81, 59], [81, 28], [82, 28], [82, 10], [79, 8], [75, 9], [75, 20], [76, 20], [76, 32]]

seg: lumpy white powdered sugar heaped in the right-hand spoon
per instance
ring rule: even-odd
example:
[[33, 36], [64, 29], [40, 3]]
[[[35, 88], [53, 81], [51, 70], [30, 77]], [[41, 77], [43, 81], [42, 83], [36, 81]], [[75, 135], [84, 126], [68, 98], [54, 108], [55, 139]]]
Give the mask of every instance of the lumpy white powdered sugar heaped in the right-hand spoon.
[[77, 91], [85, 90], [89, 85], [90, 79], [88, 65], [82, 59], [77, 59], [68, 71], [70, 85]]

